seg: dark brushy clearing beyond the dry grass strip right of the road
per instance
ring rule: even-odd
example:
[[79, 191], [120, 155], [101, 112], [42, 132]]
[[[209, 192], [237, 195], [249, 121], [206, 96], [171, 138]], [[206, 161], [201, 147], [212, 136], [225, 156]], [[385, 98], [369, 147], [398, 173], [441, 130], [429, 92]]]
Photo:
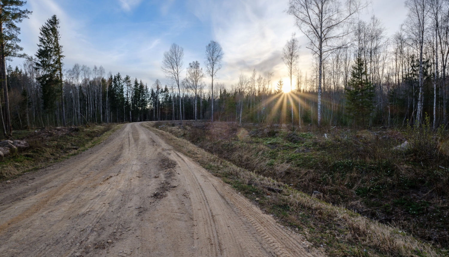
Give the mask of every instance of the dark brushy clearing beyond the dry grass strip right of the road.
[[[169, 122], [160, 129], [256, 174], [308, 194], [319, 191], [329, 203], [449, 247], [449, 173], [441, 168], [449, 166], [449, 157], [441, 131], [296, 130], [226, 122]], [[396, 148], [405, 140], [411, 148]]]

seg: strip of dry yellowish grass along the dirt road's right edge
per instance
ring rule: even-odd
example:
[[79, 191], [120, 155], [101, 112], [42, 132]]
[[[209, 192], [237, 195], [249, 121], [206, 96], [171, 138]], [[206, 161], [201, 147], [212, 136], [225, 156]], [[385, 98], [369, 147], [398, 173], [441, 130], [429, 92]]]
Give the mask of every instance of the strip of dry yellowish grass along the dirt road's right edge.
[[[184, 133], [175, 126], [167, 125], [165, 129], [170, 131], [167, 133], [153, 128], [154, 123], [147, 124], [149, 130], [157, 133], [176, 150], [198, 161], [212, 174], [242, 190], [248, 198], [255, 200], [255, 196], [261, 197], [257, 203], [261, 208], [272, 211], [286, 224], [294, 224], [292, 228], [301, 228], [300, 232], [304, 233], [309, 241], [315, 242], [314, 246], [319, 246], [320, 242], [327, 242], [326, 252], [331, 256], [447, 256], [447, 252], [423, 243], [395, 227], [362, 217], [348, 209], [330, 205], [289, 185], [239, 168], [185, 139], [173, 136], [170, 133], [178, 136]], [[220, 137], [220, 132], [215, 136]], [[269, 187], [280, 188], [282, 192], [269, 192], [267, 191]], [[270, 197], [267, 194], [270, 194]], [[288, 211], [279, 215], [277, 206], [284, 206]]]

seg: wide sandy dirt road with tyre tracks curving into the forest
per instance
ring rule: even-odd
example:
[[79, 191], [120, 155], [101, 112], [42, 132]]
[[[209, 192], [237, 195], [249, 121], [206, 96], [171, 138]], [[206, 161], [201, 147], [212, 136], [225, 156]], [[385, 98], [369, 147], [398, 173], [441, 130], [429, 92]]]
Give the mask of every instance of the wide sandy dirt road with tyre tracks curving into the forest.
[[141, 123], [0, 186], [0, 256], [316, 256]]

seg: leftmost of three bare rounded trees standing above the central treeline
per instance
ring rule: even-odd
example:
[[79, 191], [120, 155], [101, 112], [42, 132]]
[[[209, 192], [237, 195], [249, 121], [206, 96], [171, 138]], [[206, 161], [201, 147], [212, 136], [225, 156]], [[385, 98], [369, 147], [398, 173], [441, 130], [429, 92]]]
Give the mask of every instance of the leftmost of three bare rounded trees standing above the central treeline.
[[184, 58], [184, 48], [173, 43], [170, 49], [164, 52], [162, 60], [162, 71], [166, 77], [172, 81], [172, 83], [178, 86], [179, 94], [179, 114], [180, 121], [182, 122], [181, 112], [181, 88], [180, 88], [180, 74], [182, 72], [182, 66], [184, 65], [182, 59]]

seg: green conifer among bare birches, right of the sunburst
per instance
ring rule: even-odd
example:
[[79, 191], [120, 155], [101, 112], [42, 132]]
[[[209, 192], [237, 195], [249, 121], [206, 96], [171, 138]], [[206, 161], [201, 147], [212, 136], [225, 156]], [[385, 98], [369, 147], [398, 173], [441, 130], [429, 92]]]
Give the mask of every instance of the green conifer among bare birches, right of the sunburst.
[[365, 125], [374, 108], [374, 87], [368, 79], [365, 61], [357, 57], [355, 62], [346, 88], [346, 100], [350, 116], [355, 122], [361, 120], [361, 124]]

